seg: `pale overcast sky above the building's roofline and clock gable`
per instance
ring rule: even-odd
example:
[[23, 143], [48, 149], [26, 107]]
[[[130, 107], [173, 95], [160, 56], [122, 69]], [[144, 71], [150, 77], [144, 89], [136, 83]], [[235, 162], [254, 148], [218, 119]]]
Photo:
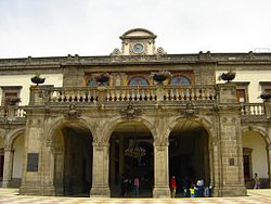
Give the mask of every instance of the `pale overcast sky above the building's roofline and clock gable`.
[[271, 0], [0, 0], [0, 59], [108, 55], [132, 28], [169, 54], [271, 52]]

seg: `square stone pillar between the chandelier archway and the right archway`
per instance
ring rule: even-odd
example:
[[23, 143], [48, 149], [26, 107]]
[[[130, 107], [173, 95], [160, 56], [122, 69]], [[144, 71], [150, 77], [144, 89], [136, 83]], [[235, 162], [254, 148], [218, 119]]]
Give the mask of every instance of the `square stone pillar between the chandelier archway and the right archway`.
[[153, 197], [170, 197], [168, 145], [168, 142], [154, 142]]

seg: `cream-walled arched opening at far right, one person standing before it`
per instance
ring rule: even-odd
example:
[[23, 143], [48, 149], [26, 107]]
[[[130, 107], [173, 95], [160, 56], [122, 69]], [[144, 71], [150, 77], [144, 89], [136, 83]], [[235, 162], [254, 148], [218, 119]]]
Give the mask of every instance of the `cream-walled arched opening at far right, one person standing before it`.
[[260, 187], [269, 188], [268, 152], [263, 136], [255, 130], [243, 132], [243, 165], [246, 188], [254, 187], [254, 175], [260, 178]]

